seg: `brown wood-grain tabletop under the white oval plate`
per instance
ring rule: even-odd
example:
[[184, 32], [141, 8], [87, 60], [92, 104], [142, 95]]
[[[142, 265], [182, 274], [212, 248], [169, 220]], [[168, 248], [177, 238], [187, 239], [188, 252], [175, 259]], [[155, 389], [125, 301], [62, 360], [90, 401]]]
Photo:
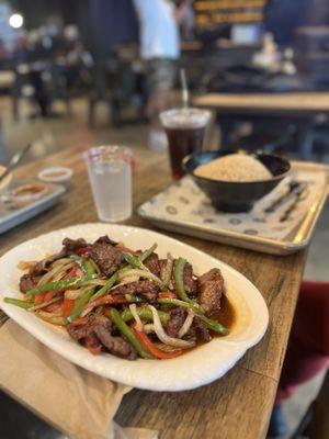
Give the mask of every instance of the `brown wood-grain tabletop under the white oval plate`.
[[[170, 183], [164, 156], [145, 150], [136, 153], [136, 156], [135, 207]], [[1, 236], [1, 254], [42, 233], [98, 219], [79, 150], [70, 149], [29, 164], [16, 173], [35, 176], [44, 166], [49, 165], [73, 168], [70, 191], [57, 206]], [[151, 227], [136, 214], [129, 223]], [[264, 438], [298, 295], [305, 254], [274, 257], [182, 235], [169, 235], [220, 258], [250, 279], [268, 303], [270, 327], [263, 340], [250, 349], [223, 379], [182, 393], [134, 390], [124, 396], [116, 420], [124, 426], [158, 429], [161, 439]]]

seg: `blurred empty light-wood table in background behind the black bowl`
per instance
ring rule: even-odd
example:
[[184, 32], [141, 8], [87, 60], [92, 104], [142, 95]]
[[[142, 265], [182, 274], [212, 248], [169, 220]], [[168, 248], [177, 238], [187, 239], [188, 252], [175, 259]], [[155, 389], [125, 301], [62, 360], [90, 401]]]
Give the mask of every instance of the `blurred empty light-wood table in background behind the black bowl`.
[[[215, 110], [219, 124], [234, 120], [270, 120], [271, 123], [281, 121], [286, 125], [295, 124], [298, 128], [300, 156], [309, 159], [313, 150], [314, 120], [318, 114], [329, 115], [329, 92], [207, 93], [195, 98], [193, 104]], [[225, 144], [228, 136], [224, 137]]]

